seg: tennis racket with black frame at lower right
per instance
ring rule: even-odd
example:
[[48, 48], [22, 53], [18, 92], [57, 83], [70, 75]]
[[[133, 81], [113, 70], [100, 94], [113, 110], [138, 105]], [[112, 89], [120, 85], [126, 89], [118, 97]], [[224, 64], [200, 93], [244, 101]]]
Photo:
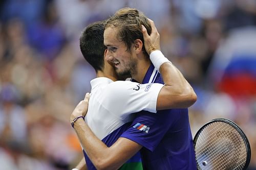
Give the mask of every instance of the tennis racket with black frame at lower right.
[[246, 169], [250, 144], [244, 132], [229, 119], [216, 118], [194, 137], [197, 168], [200, 170]]

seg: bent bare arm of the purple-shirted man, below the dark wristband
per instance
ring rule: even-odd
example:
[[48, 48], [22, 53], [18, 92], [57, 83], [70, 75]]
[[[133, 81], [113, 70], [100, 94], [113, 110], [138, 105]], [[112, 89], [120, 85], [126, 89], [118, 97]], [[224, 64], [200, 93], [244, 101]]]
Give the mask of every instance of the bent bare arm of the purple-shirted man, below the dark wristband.
[[95, 136], [83, 119], [78, 119], [74, 129], [88, 157], [97, 169], [118, 169], [142, 147], [129, 139], [119, 138], [110, 148]]

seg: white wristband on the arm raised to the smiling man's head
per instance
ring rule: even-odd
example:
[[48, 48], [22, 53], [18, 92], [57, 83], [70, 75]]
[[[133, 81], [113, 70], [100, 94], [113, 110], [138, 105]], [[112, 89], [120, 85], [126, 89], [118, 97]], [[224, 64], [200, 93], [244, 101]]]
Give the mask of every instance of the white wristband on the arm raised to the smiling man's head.
[[166, 63], [166, 62], [172, 63], [166, 57], [164, 57], [163, 53], [159, 50], [155, 50], [150, 54], [150, 60], [158, 71], [160, 69], [160, 66], [163, 63]]

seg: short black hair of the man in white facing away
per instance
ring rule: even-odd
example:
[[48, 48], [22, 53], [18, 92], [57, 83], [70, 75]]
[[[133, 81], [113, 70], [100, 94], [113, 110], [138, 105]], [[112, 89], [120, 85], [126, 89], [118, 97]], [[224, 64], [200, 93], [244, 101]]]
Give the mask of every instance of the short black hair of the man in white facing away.
[[104, 68], [104, 27], [105, 21], [97, 21], [91, 23], [83, 30], [80, 37], [80, 50], [83, 57], [93, 66], [95, 71]]

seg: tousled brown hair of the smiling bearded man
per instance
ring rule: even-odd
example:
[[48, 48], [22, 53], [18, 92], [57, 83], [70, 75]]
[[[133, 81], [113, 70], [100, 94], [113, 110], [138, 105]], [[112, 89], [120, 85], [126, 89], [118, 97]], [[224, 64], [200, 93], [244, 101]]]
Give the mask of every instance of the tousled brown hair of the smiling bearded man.
[[145, 26], [150, 35], [152, 31], [150, 22], [142, 12], [135, 8], [122, 8], [106, 21], [105, 29], [117, 28], [119, 31], [117, 39], [125, 43], [127, 51], [131, 51], [132, 44], [136, 39], [140, 39], [143, 42], [143, 52], [146, 54], [141, 25]]

